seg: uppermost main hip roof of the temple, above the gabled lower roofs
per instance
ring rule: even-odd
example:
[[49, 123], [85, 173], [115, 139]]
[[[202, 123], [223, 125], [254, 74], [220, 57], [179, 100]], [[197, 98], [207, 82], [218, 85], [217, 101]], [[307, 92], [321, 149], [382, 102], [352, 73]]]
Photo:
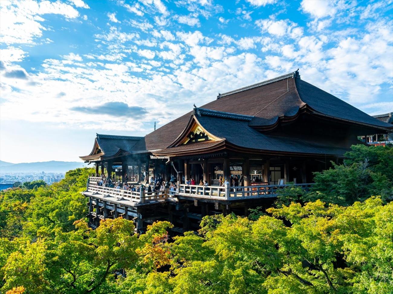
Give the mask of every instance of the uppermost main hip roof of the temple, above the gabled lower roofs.
[[[248, 125], [255, 129], [269, 130], [279, 124], [296, 119], [302, 112], [328, 117], [331, 120], [369, 127], [380, 132], [392, 125], [382, 122], [343, 100], [300, 79], [298, 71], [272, 80], [256, 83], [234, 91], [219, 94], [217, 99], [202, 107], [210, 111], [231, 113], [252, 118]], [[147, 134], [138, 142], [136, 150], [158, 150], [171, 145], [184, 130], [193, 112], [189, 112]], [[381, 130], [382, 129], [382, 130]]]

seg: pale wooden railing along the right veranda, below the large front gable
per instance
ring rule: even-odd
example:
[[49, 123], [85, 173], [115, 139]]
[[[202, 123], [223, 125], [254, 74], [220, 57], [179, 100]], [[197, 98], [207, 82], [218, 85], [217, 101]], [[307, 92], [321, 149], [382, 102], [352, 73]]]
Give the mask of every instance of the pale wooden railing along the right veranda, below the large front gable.
[[218, 187], [218, 186], [197, 186], [179, 185], [177, 194], [181, 196], [212, 198], [221, 200], [237, 200], [241, 198], [270, 198], [277, 196], [277, 190], [285, 187], [301, 187], [305, 191], [313, 184], [293, 184], [293, 185], [255, 185], [246, 187]]

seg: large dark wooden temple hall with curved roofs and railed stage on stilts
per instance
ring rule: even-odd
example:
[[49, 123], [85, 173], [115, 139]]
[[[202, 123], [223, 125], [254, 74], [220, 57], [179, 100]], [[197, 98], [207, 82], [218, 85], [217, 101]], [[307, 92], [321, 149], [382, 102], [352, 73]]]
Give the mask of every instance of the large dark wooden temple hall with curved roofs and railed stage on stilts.
[[[298, 71], [220, 93], [144, 137], [97, 134], [93, 150], [80, 157], [96, 167], [83, 192], [90, 200], [90, 225], [121, 216], [143, 232], [153, 221], [168, 220], [181, 233], [198, 229], [205, 215], [247, 215], [250, 208], [270, 206], [288, 183], [308, 189], [313, 172], [363, 143], [358, 136], [392, 129], [301, 80]], [[104, 187], [101, 174], [122, 182], [127, 174], [130, 185], [142, 186]], [[149, 192], [152, 176], [176, 188]], [[220, 176], [230, 183], [220, 186]], [[187, 178], [195, 185], [187, 185]]]

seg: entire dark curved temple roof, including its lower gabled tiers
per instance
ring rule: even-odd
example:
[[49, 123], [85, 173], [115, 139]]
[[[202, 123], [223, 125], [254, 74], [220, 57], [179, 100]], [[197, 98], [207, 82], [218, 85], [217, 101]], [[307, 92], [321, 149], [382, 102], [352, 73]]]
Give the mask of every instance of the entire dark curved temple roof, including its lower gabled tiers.
[[[219, 94], [216, 100], [195, 108], [143, 138], [97, 134], [96, 142], [103, 151], [101, 156], [105, 158], [114, 156], [121, 151], [170, 154], [175, 149], [180, 151], [187, 148], [189, 150], [202, 148], [205, 150], [210, 147], [223, 148], [224, 145], [229, 148], [231, 144], [239, 148], [259, 151], [274, 151], [273, 149], [275, 149], [283, 152], [315, 154], [343, 154], [346, 151], [347, 147], [343, 146], [341, 142], [330, 141], [330, 143], [323, 142], [318, 145], [312, 138], [300, 140], [268, 136], [259, 132], [272, 130], [281, 121], [296, 120], [302, 113], [373, 129], [375, 132], [386, 132], [393, 129], [391, 124], [369, 116], [343, 100], [301, 80], [299, 72], [295, 71]], [[222, 138], [222, 141], [220, 143], [196, 143], [193, 144], [193, 147], [176, 147], [174, 142], [184, 133], [192, 118], [196, 118], [202, 127], [217, 138]], [[242, 129], [243, 132], [250, 134], [250, 138], [252, 136], [252, 140], [244, 140], [243, 137], [243, 140], [239, 141], [239, 136], [235, 138], [227, 133], [226, 128], [222, 125], [226, 125], [228, 121], [230, 121], [229, 129]], [[350, 142], [346, 143], [348, 146]], [[168, 148], [169, 146], [171, 148]], [[171, 149], [170, 152], [169, 149]], [[81, 158], [88, 160], [88, 158], [98, 156], [93, 153], [94, 150], [89, 156]]]

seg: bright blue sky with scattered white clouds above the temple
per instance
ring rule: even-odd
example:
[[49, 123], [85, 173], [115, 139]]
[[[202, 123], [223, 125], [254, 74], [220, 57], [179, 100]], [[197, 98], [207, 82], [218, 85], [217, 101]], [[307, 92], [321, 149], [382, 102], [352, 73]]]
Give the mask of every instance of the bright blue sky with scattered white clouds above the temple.
[[78, 161], [218, 93], [299, 68], [393, 111], [393, 2], [0, 1], [0, 159]]

